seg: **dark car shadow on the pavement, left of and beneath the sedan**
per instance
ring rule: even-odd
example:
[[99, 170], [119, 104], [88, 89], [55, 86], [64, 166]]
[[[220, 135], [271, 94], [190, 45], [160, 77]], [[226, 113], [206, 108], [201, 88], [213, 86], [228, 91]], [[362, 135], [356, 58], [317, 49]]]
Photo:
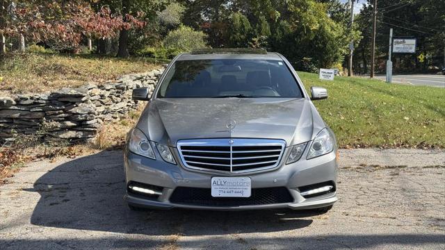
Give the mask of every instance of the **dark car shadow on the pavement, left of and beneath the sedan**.
[[219, 212], [131, 211], [124, 196], [122, 152], [103, 151], [63, 163], [34, 183], [40, 200], [31, 224], [116, 233], [224, 235], [278, 232], [312, 224], [315, 215], [292, 210]]

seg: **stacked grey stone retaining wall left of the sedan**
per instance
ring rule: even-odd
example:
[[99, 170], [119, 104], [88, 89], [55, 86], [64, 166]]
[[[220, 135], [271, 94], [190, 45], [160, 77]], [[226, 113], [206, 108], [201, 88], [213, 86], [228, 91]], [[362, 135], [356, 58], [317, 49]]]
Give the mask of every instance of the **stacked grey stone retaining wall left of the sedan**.
[[102, 85], [86, 83], [47, 94], [0, 97], [0, 141], [23, 135], [36, 135], [43, 141], [94, 138], [103, 122], [120, 119], [137, 108], [132, 90], [148, 87], [152, 92], [162, 72], [163, 68], [154, 69]]

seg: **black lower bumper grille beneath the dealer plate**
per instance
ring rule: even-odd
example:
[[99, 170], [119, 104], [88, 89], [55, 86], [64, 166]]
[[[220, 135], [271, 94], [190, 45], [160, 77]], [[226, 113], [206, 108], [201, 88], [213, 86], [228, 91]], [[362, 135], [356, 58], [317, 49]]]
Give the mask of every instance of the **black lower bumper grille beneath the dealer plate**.
[[250, 197], [212, 197], [210, 188], [175, 188], [170, 196], [171, 203], [191, 206], [254, 206], [291, 203], [293, 197], [285, 187], [252, 188]]

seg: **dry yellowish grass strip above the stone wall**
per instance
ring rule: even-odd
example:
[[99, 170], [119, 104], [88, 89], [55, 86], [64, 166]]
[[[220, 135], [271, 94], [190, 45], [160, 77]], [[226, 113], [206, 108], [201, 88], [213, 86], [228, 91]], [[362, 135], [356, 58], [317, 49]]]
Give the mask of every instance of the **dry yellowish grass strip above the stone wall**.
[[45, 92], [103, 83], [122, 74], [147, 72], [165, 60], [115, 58], [95, 54], [10, 53], [0, 65], [0, 92]]

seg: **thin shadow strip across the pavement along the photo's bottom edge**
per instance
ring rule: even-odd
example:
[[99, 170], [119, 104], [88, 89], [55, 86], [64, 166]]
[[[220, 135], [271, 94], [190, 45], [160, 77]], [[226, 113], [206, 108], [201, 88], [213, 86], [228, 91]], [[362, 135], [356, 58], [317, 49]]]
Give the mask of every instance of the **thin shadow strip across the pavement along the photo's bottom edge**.
[[[443, 235], [421, 235], [421, 234], [394, 234], [394, 235], [330, 235], [329, 237], [299, 237], [295, 238], [249, 238], [247, 241], [239, 242], [236, 247], [231, 238], [215, 238], [208, 240], [188, 240], [188, 246], [193, 249], [250, 249], [248, 246], [254, 244], [261, 249], [381, 249], [382, 245], [391, 246], [385, 249], [441, 249], [437, 245], [443, 242]], [[26, 246], [26, 249], [154, 249], [165, 247], [165, 249], [179, 249], [175, 244], [165, 244], [162, 240], [146, 240], [137, 238], [122, 238], [113, 242], [107, 238], [96, 239], [58, 239], [54, 240], [0, 240], [0, 246], [6, 248], [18, 248]], [[436, 247], [426, 247], [435, 244]], [[93, 247], [94, 246], [94, 247]], [[437, 248], [439, 247], [439, 248]], [[257, 249], [257, 248], [251, 248]]]

